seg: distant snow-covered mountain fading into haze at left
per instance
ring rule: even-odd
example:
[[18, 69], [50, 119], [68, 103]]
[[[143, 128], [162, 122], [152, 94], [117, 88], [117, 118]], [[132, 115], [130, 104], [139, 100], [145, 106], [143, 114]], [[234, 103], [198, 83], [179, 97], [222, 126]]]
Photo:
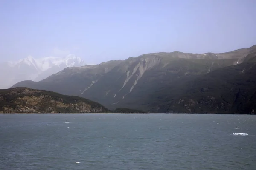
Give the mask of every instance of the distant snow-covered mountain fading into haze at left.
[[[84, 61], [73, 54], [67, 57], [45, 57], [34, 59], [29, 56], [16, 62], [0, 63], [1, 88], [9, 88], [23, 80], [40, 81], [64, 68], [85, 65]], [[8, 74], [6, 74], [8, 73]]]

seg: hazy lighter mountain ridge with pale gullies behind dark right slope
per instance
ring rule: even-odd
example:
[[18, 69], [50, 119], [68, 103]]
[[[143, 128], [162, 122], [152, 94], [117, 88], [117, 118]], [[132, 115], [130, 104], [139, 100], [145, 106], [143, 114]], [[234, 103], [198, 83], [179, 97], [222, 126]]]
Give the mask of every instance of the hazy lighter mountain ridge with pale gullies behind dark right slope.
[[[185, 113], [191, 113], [191, 111], [200, 113], [206, 110], [189, 108], [191, 110], [189, 111], [167, 107], [171, 105], [171, 100], [174, 100], [171, 97], [173, 92], [184, 93], [179, 96], [185, 99], [187, 91], [181, 91], [181, 89], [187, 80], [193, 80], [202, 75], [208, 76], [212, 71], [221, 68], [240, 65], [247, 62], [248, 56], [252, 56], [254, 52], [256, 52], [255, 45], [220, 54], [191, 54], [177, 51], [143, 54], [139, 57], [108, 61], [99, 65], [65, 68], [40, 82], [23, 81], [13, 87], [29, 87], [82, 96], [110, 109], [126, 107], [146, 109], [150, 112], [182, 110]], [[235, 74], [236, 67], [232, 69], [230, 74]], [[241, 79], [241, 81], [244, 80]], [[158, 93], [159, 89], [163, 89], [163, 92], [159, 93], [159, 101], [161, 98], [166, 98], [165, 95], [169, 95], [167, 96], [169, 103], [164, 101], [163, 106], [152, 97]], [[184, 105], [180, 107], [186, 108]], [[212, 110], [207, 111], [212, 112]]]

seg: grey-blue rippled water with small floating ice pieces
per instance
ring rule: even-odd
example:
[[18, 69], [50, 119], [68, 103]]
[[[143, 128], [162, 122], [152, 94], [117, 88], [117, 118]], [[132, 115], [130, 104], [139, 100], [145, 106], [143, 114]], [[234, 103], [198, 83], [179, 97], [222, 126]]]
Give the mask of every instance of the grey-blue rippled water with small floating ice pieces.
[[0, 115], [0, 170], [256, 170], [256, 116]]

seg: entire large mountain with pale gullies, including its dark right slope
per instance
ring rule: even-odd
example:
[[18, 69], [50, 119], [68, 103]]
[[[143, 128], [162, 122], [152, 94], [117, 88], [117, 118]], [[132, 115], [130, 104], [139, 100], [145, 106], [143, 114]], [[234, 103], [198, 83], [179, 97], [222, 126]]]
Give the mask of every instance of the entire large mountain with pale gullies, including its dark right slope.
[[[250, 96], [247, 102], [255, 102], [251, 96], [256, 91], [251, 72], [255, 53], [256, 45], [220, 54], [179, 51], [144, 54], [124, 61], [65, 68], [40, 82], [23, 81], [13, 87], [82, 96], [110, 109], [134, 108], [157, 113], [253, 113], [254, 105], [242, 109], [245, 107], [243, 98], [233, 95], [240, 89], [239, 95]], [[251, 81], [247, 82], [244, 77]], [[225, 85], [228, 88], [224, 88]], [[247, 87], [250, 89], [245, 91]], [[222, 94], [229, 99], [223, 98]]]

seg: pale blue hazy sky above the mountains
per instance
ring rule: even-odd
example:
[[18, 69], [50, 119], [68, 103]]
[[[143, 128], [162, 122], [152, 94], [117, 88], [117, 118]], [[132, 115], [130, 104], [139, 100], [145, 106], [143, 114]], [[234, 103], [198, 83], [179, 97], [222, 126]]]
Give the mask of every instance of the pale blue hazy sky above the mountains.
[[256, 44], [256, 0], [0, 0], [0, 61], [65, 56], [89, 64], [151, 52]]

